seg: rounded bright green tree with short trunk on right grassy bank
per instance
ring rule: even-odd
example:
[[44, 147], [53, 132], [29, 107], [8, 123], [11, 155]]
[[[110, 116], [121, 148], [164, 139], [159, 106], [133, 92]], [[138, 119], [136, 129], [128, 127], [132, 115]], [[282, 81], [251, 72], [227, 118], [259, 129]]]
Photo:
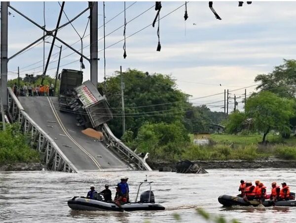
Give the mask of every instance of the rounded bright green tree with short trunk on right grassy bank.
[[262, 143], [271, 130], [290, 131], [289, 120], [295, 115], [295, 101], [281, 98], [270, 91], [251, 95], [246, 103], [246, 116], [252, 118], [254, 127], [263, 133]]

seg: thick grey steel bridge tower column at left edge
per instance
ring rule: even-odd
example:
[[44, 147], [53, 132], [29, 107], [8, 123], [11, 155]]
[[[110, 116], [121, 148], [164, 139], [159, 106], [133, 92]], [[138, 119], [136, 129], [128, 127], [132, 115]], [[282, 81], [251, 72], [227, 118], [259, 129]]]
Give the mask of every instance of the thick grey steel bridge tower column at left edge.
[[5, 108], [7, 106], [8, 5], [9, 5], [9, 1], [1, 1], [0, 93], [1, 93], [2, 106]]

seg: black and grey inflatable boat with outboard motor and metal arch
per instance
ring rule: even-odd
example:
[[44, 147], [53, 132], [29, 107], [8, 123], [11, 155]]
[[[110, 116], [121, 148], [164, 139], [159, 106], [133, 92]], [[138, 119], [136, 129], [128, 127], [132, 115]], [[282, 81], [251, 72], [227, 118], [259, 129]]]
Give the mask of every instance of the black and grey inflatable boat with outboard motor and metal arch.
[[[143, 183], [150, 185], [150, 190], [144, 191], [140, 196], [140, 201], [137, 201], [140, 187]], [[137, 197], [135, 202], [122, 203], [121, 208], [111, 202], [103, 201], [101, 198], [98, 200], [88, 199], [85, 197], [73, 197], [68, 200], [68, 206], [73, 210], [86, 210], [86, 211], [160, 211], [165, 208], [154, 202], [154, 193], [151, 190], [151, 182], [140, 182]]]

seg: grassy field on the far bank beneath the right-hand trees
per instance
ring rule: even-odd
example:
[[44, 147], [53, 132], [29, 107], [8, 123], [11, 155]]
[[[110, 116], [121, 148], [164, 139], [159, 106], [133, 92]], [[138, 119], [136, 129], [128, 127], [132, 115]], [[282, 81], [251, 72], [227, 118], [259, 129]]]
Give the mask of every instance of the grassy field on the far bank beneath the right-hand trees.
[[[190, 135], [190, 141], [193, 136]], [[269, 135], [267, 145], [259, 144], [261, 135], [213, 134], [206, 146], [191, 144], [185, 148], [182, 158], [190, 160], [255, 160], [277, 156], [281, 159], [296, 159], [296, 138], [283, 139]]]

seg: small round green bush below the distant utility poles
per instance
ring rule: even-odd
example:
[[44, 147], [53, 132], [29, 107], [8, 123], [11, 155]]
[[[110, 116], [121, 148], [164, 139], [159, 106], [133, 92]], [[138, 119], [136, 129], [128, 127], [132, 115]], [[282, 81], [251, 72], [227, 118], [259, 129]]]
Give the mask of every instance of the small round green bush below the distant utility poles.
[[228, 134], [237, 134], [246, 127], [246, 115], [238, 110], [232, 112], [226, 121], [225, 132]]

